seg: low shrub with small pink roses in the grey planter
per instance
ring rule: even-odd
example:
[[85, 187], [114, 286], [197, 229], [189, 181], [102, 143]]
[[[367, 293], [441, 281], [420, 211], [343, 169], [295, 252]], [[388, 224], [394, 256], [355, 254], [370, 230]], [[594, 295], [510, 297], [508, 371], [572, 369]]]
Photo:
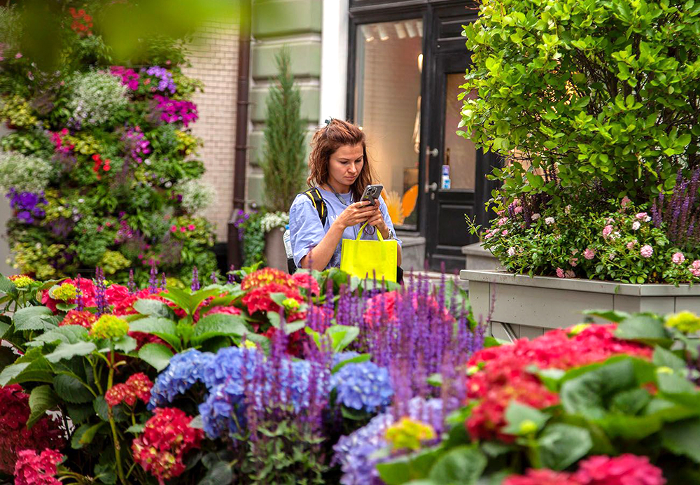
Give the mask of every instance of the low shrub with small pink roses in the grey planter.
[[650, 213], [628, 200], [610, 212], [552, 206], [541, 214], [516, 201], [486, 230], [484, 247], [517, 273], [623, 283], [700, 281], [694, 267], [700, 253], [681, 252]]

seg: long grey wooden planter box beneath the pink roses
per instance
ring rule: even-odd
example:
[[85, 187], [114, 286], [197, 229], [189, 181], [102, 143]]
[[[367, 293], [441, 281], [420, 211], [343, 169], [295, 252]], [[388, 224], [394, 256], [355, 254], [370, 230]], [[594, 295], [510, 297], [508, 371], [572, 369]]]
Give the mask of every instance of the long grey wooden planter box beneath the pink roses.
[[468, 269], [459, 278], [469, 282], [475, 318], [486, 320], [493, 304], [491, 332], [499, 339], [533, 338], [570, 327], [591, 309], [700, 313], [700, 285], [632, 285]]

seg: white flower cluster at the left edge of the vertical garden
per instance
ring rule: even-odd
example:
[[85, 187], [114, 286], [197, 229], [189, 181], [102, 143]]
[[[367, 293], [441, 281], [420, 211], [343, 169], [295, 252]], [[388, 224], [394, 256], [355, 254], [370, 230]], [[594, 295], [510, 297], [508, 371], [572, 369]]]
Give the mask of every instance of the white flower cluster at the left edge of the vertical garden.
[[18, 152], [0, 152], [0, 188], [9, 192], [41, 192], [53, 176], [54, 167], [48, 160], [27, 157]]

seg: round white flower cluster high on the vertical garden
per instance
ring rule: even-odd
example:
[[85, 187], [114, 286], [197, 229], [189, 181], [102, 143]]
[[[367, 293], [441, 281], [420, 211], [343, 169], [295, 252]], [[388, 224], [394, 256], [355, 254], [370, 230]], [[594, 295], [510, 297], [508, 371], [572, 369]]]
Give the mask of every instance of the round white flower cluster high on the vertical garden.
[[127, 106], [127, 87], [109, 73], [76, 73], [71, 84], [73, 92], [67, 106], [76, 124], [102, 125]]

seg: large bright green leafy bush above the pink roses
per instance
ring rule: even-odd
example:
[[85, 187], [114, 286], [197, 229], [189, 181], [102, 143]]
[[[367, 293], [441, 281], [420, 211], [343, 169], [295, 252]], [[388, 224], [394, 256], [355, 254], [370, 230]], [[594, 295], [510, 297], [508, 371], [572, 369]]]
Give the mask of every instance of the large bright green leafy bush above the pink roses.
[[693, 1], [484, 0], [462, 134], [525, 162], [494, 171], [511, 200], [650, 202], [700, 164], [699, 33]]

